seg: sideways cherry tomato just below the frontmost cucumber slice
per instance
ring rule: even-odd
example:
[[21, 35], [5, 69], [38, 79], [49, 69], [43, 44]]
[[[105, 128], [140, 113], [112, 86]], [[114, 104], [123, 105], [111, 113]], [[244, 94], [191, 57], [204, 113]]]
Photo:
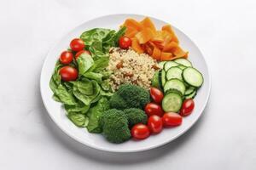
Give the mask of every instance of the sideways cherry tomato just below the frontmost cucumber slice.
[[164, 114], [162, 120], [165, 127], [174, 127], [180, 125], [183, 122], [183, 117], [177, 113], [168, 112]]

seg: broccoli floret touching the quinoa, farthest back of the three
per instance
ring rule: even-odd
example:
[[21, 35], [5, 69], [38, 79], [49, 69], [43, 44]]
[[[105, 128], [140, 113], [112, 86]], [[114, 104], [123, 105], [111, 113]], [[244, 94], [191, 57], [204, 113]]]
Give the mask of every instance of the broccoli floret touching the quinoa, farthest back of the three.
[[121, 110], [129, 108], [144, 109], [149, 102], [148, 90], [132, 84], [123, 84], [110, 99], [110, 106]]

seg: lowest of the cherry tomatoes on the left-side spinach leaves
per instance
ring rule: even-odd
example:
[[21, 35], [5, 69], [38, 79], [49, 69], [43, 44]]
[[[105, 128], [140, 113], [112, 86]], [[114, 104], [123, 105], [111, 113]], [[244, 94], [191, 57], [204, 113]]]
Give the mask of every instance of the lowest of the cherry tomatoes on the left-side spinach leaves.
[[72, 66], [63, 66], [60, 70], [61, 80], [65, 82], [74, 81], [78, 78], [79, 72]]

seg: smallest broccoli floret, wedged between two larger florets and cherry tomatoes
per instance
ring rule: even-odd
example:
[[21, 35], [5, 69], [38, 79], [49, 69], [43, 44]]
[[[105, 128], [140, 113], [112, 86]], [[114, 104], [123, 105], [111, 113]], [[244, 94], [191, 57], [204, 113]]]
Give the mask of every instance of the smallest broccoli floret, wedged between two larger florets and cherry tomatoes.
[[129, 127], [133, 127], [137, 123], [143, 123], [146, 124], [148, 121], [148, 116], [143, 110], [137, 109], [137, 108], [130, 108], [124, 110], [125, 115], [128, 118]]

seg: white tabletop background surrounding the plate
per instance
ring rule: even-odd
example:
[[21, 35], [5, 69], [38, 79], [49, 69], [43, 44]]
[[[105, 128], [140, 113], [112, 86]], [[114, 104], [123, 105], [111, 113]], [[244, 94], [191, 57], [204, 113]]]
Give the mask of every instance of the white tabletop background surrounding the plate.
[[[200, 121], [158, 149], [93, 150], [49, 119], [39, 75], [49, 49], [105, 14], [154, 16], [201, 48], [212, 93]], [[0, 3], [0, 169], [256, 169], [256, 1], [8, 0]]]

